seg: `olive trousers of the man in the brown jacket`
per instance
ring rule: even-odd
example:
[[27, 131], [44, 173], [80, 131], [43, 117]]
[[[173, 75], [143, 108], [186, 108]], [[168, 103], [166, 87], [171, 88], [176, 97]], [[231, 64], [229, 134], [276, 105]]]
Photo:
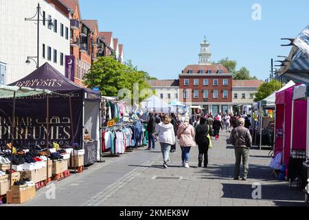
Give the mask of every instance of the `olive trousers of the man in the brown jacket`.
[[234, 168], [234, 178], [238, 178], [240, 172], [240, 162], [242, 160], [243, 173], [242, 177], [247, 177], [249, 170], [249, 149], [238, 147], [235, 148], [236, 163]]

